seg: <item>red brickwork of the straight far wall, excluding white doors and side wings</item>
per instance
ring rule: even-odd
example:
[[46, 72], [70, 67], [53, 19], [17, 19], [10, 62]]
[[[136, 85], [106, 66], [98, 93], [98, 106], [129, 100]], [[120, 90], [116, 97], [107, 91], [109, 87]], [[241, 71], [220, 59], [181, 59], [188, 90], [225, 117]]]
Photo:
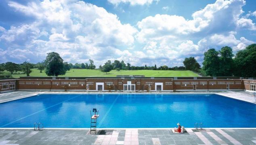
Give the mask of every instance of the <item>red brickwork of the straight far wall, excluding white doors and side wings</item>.
[[[86, 79], [86, 80], [19, 80], [19, 85], [17, 88], [19, 90], [86, 90], [86, 83], [93, 82], [89, 85], [90, 90], [96, 90], [96, 83], [103, 82], [104, 90], [123, 90], [123, 84], [127, 84], [127, 81], [131, 81], [132, 84], [136, 85], [136, 90], [148, 90], [149, 86], [146, 84], [152, 83], [151, 90], [155, 90], [155, 83], [163, 83], [163, 91], [168, 90], [193, 90], [193, 86], [196, 90], [227, 90], [227, 84], [219, 84], [218, 82], [231, 82], [229, 84], [230, 90], [242, 90], [244, 88], [248, 89], [248, 86], [243, 85], [243, 80], [172, 80], [172, 79], [114, 79], [114, 78], [100, 78], [100, 79]], [[22, 83], [23, 82], [23, 83]], [[29, 82], [37, 82], [38, 84], [29, 84]], [[50, 82], [50, 84], [44, 84], [44, 82]], [[58, 85], [52, 84], [54, 82], [59, 82]], [[77, 84], [61, 84], [61, 82], [76, 82]], [[83, 82], [79, 84], [79, 82]], [[113, 82], [113, 85], [107, 85], [106, 82]], [[119, 82], [122, 83], [119, 84]], [[137, 82], [140, 84], [137, 85]], [[166, 82], [172, 82], [171, 85], [166, 85]], [[174, 84], [174, 82], [180, 82], [180, 84]], [[184, 82], [195, 82], [197, 84], [183, 84]], [[209, 84], [210, 82], [216, 82], [216, 84]], [[206, 83], [206, 84], [200, 84]], [[250, 89], [250, 86], [249, 86]]]

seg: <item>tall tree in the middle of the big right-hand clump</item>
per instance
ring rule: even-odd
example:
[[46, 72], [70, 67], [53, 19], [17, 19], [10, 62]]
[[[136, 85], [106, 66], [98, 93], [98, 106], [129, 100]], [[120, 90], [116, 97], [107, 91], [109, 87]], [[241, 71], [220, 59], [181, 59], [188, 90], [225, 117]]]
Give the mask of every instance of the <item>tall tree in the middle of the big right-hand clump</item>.
[[230, 47], [222, 47], [219, 51], [219, 69], [220, 76], [232, 76], [233, 74], [233, 51]]

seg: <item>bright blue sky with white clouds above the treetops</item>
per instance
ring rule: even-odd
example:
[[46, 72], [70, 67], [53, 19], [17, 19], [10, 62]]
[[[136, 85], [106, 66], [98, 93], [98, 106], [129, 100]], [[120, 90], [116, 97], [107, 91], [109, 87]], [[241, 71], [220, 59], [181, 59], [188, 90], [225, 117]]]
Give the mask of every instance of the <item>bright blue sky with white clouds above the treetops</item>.
[[204, 52], [256, 43], [255, 0], [1, 0], [0, 63], [107, 60], [202, 64]]

